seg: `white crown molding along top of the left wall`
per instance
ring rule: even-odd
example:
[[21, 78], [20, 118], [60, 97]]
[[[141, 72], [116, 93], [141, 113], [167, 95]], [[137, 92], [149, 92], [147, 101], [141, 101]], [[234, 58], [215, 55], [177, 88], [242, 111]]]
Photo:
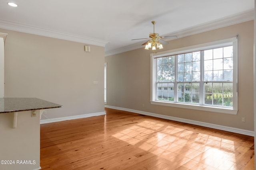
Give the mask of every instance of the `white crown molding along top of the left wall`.
[[14, 23], [14, 22], [6, 21], [6, 20], [0, 20], [0, 28], [9, 29], [12, 31], [23, 32], [23, 33], [42, 35], [45, 37], [64, 39], [64, 40], [68, 40], [68, 41], [75, 41], [75, 42], [79, 42], [79, 43], [86, 43], [86, 44], [90, 44], [90, 45], [97, 45], [97, 46], [101, 46], [101, 47], [105, 47], [105, 45], [107, 43], [109, 43], [109, 41], [93, 39], [93, 38], [89, 38], [89, 37], [83, 37], [83, 36], [76, 35], [76, 34], [59, 32], [59, 31], [44, 29], [44, 28], [40, 28], [40, 27], [34, 27], [31, 25], [24, 25], [21, 23]]

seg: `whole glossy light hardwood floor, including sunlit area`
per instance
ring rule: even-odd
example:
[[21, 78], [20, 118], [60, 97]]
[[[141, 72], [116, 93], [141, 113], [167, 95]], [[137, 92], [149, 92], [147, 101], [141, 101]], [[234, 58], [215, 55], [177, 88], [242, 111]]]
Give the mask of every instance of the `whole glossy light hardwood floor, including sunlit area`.
[[42, 170], [254, 170], [254, 137], [105, 110], [42, 124]]

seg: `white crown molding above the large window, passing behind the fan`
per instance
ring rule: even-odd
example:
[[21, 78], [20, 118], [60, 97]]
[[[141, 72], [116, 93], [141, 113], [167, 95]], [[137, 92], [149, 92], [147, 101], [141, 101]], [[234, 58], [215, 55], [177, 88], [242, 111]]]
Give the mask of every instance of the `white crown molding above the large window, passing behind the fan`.
[[[174, 32], [166, 34], [165, 36], [177, 35], [178, 38], [187, 37], [190, 35], [206, 32], [206, 31], [211, 31], [211, 30], [218, 29], [221, 27], [227, 27], [230, 25], [234, 25], [234, 24], [238, 24], [238, 23], [242, 23], [242, 22], [246, 22], [246, 21], [250, 21], [250, 20], [254, 20], [254, 9], [247, 10], [247, 11], [244, 11], [241, 13], [237, 13], [232, 16], [220, 18], [218, 20], [209, 21], [206, 23], [195, 25], [193, 27], [188, 27], [186, 29], [182, 29], [179, 31], [174, 31]], [[171, 40], [172, 39], [166, 39], [166, 41], [171, 41]], [[141, 42], [139, 42], [139, 43], [141, 43]], [[118, 53], [124, 53], [126, 51], [131, 51], [131, 50], [135, 50], [135, 49], [139, 49], [139, 48], [142, 48], [142, 47], [140, 45], [132, 44], [132, 45], [120, 48], [120, 49], [115, 49], [113, 51], [105, 51], [105, 57], [110, 56], [110, 55], [115, 55]]]

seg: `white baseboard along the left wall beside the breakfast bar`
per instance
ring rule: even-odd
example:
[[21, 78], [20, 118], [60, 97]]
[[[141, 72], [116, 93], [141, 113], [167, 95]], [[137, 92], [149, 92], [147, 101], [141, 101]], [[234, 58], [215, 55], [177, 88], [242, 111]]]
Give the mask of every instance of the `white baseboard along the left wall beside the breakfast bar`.
[[57, 121], [72, 120], [72, 119], [80, 119], [80, 118], [100, 116], [100, 115], [106, 115], [106, 112], [104, 111], [104, 112], [98, 112], [98, 113], [88, 113], [88, 114], [83, 114], [83, 115], [59, 117], [59, 118], [53, 118], [53, 119], [44, 119], [44, 120], [40, 120], [40, 124], [52, 123], [52, 122], [57, 122]]

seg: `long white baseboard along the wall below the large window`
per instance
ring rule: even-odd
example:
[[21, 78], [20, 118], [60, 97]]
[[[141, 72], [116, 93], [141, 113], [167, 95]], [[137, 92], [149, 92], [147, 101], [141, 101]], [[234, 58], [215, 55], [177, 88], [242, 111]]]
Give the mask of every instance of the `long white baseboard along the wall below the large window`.
[[248, 131], [248, 130], [238, 129], [238, 128], [234, 128], [234, 127], [216, 125], [216, 124], [212, 124], [212, 123], [205, 123], [205, 122], [202, 122], [202, 121], [194, 121], [194, 120], [190, 120], [190, 119], [183, 119], [183, 118], [172, 117], [172, 116], [167, 116], [167, 115], [160, 115], [160, 114], [156, 114], [156, 113], [149, 113], [149, 112], [145, 112], [145, 111], [127, 109], [127, 108], [122, 108], [122, 107], [115, 107], [115, 106], [108, 106], [108, 105], [105, 105], [105, 107], [111, 108], [111, 109], [123, 110], [123, 111], [130, 111], [130, 112], [133, 112], [133, 113], [158, 117], [158, 118], [162, 118], [162, 119], [168, 119], [168, 120], [179, 121], [179, 122], [183, 122], [183, 123], [189, 123], [189, 124], [192, 124], [192, 125], [210, 127], [210, 128], [214, 128], [214, 129], [223, 130], [223, 131], [239, 133], [239, 134], [242, 134], [242, 135], [254, 136], [254, 131]]

